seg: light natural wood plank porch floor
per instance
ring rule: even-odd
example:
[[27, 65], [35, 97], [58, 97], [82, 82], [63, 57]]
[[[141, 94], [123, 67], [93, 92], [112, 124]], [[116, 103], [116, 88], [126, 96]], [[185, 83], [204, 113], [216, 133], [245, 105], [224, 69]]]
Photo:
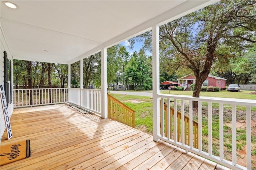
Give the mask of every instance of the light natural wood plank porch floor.
[[31, 157], [4, 169], [174, 169], [224, 167], [186, 152], [134, 128], [61, 104], [15, 109], [13, 137], [1, 145], [30, 139]]

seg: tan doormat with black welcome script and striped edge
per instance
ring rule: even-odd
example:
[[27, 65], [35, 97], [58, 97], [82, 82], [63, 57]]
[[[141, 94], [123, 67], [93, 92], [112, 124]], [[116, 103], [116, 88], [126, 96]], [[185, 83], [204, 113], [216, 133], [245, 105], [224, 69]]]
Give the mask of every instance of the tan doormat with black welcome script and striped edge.
[[0, 166], [30, 157], [30, 140], [0, 146]]

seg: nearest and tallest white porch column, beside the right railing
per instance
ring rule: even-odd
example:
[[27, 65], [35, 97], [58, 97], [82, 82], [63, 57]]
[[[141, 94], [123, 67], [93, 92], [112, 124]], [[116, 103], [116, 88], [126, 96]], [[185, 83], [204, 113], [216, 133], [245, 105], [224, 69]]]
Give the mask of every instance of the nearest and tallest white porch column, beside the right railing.
[[160, 134], [160, 93], [159, 85], [159, 26], [152, 28], [152, 69], [153, 69], [153, 140], [158, 142]]

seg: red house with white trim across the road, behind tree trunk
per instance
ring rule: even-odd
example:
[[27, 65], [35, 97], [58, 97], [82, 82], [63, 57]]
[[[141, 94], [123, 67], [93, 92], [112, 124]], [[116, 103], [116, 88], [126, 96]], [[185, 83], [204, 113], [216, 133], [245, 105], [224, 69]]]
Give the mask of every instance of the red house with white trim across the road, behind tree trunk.
[[[190, 85], [194, 84], [195, 82], [196, 82], [196, 77], [192, 73], [178, 79], [179, 86], [188, 87], [188, 88], [190, 88]], [[225, 89], [226, 79], [209, 74], [206, 80], [204, 81], [204, 83], [202, 84], [202, 86], [214, 86], [214, 87], [220, 87], [220, 89]]]

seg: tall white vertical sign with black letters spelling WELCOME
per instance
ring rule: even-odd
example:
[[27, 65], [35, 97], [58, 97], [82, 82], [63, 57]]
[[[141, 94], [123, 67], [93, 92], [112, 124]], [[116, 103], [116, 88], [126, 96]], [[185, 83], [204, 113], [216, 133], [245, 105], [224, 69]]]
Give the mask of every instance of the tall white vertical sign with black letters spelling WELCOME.
[[3, 84], [0, 84], [0, 98], [1, 98], [1, 104], [2, 104], [2, 109], [4, 113], [6, 132], [9, 140], [12, 137], [12, 129], [11, 129], [11, 123], [10, 123], [10, 114], [8, 114], [8, 105], [6, 101], [6, 95], [4, 92]]

